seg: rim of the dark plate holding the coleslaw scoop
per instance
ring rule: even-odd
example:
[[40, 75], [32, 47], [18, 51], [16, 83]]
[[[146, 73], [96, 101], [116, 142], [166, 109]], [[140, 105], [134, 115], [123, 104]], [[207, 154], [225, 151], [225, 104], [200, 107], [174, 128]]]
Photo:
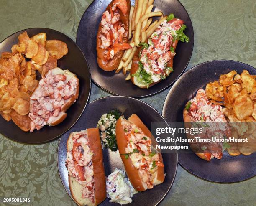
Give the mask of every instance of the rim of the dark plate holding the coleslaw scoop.
[[[148, 103], [146, 103], [146, 102], [143, 102], [143, 101], [141, 101], [140, 99], [135, 99], [135, 98], [133, 98], [133, 97], [126, 97], [126, 96], [107, 96], [107, 97], [100, 97], [100, 98], [98, 98], [98, 99], [95, 99], [95, 100], [93, 100], [92, 102], [89, 102], [88, 103], [88, 105], [89, 104], [91, 104], [91, 103], [94, 103], [94, 102], [96, 102], [97, 100], [101, 100], [101, 99], [107, 99], [107, 98], [119, 98], [119, 97], [124, 97], [124, 98], [130, 98], [130, 99], [133, 99], [133, 100], [135, 100], [135, 101], [139, 101], [139, 102], [142, 102], [142, 103], [144, 103], [144, 104], [147, 104], [149, 107], [151, 107], [152, 109], [154, 109], [161, 117], [162, 117], [162, 119], [164, 120], [164, 122], [166, 122], [166, 120], [164, 119], [164, 117], [162, 116], [162, 114], [160, 113], [160, 112], [158, 112], [154, 107], [152, 107], [150, 104], [148, 104]], [[167, 124], [167, 122], [166, 122], [166, 124]], [[168, 125], [168, 124], [167, 124]], [[66, 133], [66, 132], [65, 132]], [[62, 134], [62, 135], [64, 135], [64, 134]], [[62, 181], [62, 178], [61, 178], [61, 174], [60, 174], [60, 170], [59, 170], [59, 168], [60, 168], [60, 161], [59, 161], [59, 148], [60, 148], [60, 142], [61, 142], [61, 138], [62, 138], [62, 135], [61, 135], [61, 137], [59, 138], [59, 144], [58, 144], [58, 148], [57, 148], [57, 167], [58, 167], [58, 173], [59, 173], [59, 177], [60, 177], [60, 179], [61, 179], [61, 183], [62, 183], [62, 186], [65, 188], [65, 191], [67, 192], [67, 194], [69, 195], [69, 192], [67, 191], [67, 189], [66, 189], [66, 187], [64, 186], [64, 183], [63, 183], [63, 181]], [[174, 142], [174, 144], [176, 145], [176, 142]], [[172, 185], [173, 185], [173, 183], [174, 183], [174, 180], [175, 180], [175, 178], [176, 178], [176, 175], [177, 175], [177, 169], [178, 169], [178, 161], [179, 161], [179, 158], [178, 158], [178, 152], [177, 152], [177, 150], [176, 150], [176, 153], [174, 153], [175, 154], [175, 160], [176, 160], [176, 166], [175, 166], [175, 172], [174, 172], [174, 176], [173, 176], [173, 178], [172, 178], [172, 181], [171, 181], [171, 184], [170, 184], [170, 186], [168, 187], [168, 189], [167, 189], [167, 191], [166, 191], [166, 193], [164, 194], [164, 196], [154, 205], [154, 206], [157, 206], [157, 205], [159, 205], [160, 203], [161, 203], [161, 201], [163, 201], [164, 200], [164, 198], [166, 198], [166, 196], [167, 196], [167, 194], [169, 193], [169, 191], [171, 190], [171, 188], [172, 188]], [[104, 160], [103, 160], [103, 163], [104, 163]], [[72, 197], [72, 196], [70, 196], [69, 195], [69, 197], [70, 198], [72, 198], [72, 200], [77, 204], [77, 202], [74, 200], [74, 198]], [[107, 199], [107, 198], [106, 198]], [[105, 200], [104, 200], [105, 201]], [[132, 203], [131, 203], [132, 204]], [[78, 204], [77, 204], [78, 205]]]

